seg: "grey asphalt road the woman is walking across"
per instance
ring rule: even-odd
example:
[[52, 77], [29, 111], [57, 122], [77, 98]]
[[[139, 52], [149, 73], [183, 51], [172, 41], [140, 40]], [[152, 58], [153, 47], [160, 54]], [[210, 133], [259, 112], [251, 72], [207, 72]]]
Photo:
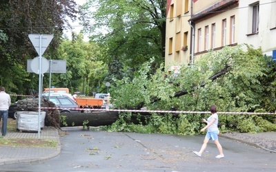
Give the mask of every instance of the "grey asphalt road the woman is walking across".
[[276, 171], [276, 153], [219, 138], [225, 158], [204, 136], [177, 136], [63, 128], [61, 153], [40, 162], [5, 164], [0, 171]]

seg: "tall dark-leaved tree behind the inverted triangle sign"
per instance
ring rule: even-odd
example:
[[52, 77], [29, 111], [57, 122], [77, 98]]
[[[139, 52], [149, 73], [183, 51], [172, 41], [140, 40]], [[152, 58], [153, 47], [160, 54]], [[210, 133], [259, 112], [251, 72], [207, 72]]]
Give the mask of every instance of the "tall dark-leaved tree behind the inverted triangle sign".
[[[43, 55], [52, 56], [68, 19], [75, 20], [77, 13], [77, 5], [73, 0], [1, 1], [0, 37], [5, 34], [7, 39], [0, 48], [1, 84], [8, 85], [8, 90], [12, 89], [19, 94], [30, 87], [36, 88], [37, 79], [33, 78], [37, 77], [26, 73], [27, 59], [37, 56], [28, 34], [54, 34], [54, 39]], [[10, 74], [16, 74], [19, 78], [10, 78]]]

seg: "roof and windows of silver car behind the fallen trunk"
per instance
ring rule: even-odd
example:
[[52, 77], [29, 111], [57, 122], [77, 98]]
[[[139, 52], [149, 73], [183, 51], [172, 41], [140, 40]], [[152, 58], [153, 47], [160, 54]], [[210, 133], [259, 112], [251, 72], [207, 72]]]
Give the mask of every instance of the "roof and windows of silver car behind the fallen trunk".
[[[42, 98], [48, 100], [49, 96], [42, 96]], [[50, 101], [55, 103], [60, 113], [81, 112], [79, 105], [69, 97], [50, 95]]]

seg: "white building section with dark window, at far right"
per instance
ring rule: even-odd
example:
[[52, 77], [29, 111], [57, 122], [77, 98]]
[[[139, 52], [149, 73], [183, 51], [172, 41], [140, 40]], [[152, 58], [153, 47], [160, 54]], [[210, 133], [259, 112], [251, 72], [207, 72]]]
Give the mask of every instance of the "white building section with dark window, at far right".
[[238, 43], [248, 43], [276, 61], [276, 0], [239, 1]]

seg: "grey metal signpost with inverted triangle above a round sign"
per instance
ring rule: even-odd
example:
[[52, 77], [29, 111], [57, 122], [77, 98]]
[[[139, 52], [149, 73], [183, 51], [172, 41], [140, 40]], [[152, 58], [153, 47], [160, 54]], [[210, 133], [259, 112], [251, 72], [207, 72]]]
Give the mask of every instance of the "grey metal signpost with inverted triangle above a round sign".
[[[37, 65], [35, 65], [35, 63], [37, 63], [37, 60], [33, 60], [34, 62], [32, 62], [34, 65], [31, 64], [32, 66], [32, 71], [36, 74], [39, 74], [39, 115], [38, 115], [38, 138], [40, 138], [40, 112], [41, 112], [41, 74], [43, 74], [43, 72], [45, 71], [45, 69], [47, 67], [42, 67], [41, 63], [42, 63], [42, 55], [45, 52], [46, 48], [48, 47], [48, 45], [50, 44], [50, 42], [52, 41], [52, 38], [54, 36], [52, 34], [29, 34], [29, 39], [32, 42], [32, 45], [34, 45], [34, 49], [37, 51], [37, 54], [39, 54], [39, 57], [37, 58], [39, 61], [39, 67], [37, 67]], [[45, 61], [45, 60], [44, 60]], [[47, 65], [49, 65], [49, 63], [47, 63]], [[43, 64], [44, 66], [44, 64]], [[37, 68], [36, 68], [37, 67]], [[49, 68], [49, 66], [48, 66]], [[48, 70], [48, 68], [46, 69], [46, 71]], [[43, 69], [43, 71], [42, 71]], [[37, 71], [35, 71], [37, 70]], [[46, 72], [45, 71], [45, 72]], [[44, 72], [44, 73], [45, 73]]]

